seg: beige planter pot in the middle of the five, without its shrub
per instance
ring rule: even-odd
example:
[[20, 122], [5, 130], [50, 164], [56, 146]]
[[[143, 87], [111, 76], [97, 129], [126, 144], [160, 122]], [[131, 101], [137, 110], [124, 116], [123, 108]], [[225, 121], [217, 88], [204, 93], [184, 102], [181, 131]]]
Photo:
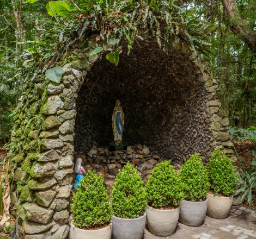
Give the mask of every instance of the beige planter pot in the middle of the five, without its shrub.
[[176, 229], [180, 207], [172, 210], [147, 207], [147, 224], [150, 232], [156, 236], [172, 235]]

